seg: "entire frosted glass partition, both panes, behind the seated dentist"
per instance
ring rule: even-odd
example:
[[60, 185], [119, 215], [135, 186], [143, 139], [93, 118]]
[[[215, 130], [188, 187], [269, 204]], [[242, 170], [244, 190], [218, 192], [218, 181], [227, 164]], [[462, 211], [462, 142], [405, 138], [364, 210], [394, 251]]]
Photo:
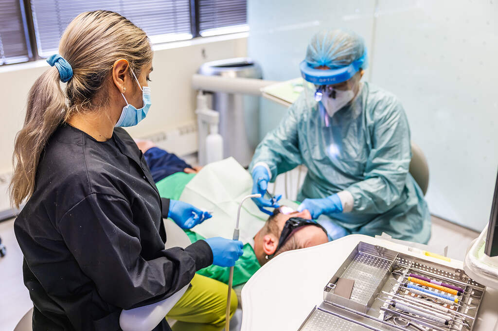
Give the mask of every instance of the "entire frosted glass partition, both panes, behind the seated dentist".
[[[497, 2], [248, 1], [248, 52], [265, 78], [286, 80], [299, 76], [307, 42], [321, 27], [362, 35], [365, 78], [399, 97], [412, 140], [427, 156], [431, 213], [482, 230], [498, 166]], [[260, 131], [284, 113], [263, 102]]]

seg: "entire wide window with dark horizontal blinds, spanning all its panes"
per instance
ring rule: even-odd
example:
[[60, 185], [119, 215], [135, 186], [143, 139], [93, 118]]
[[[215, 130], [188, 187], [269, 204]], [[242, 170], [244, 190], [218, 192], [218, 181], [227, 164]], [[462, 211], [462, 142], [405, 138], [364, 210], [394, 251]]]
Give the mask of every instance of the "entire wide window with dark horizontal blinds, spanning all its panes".
[[84, 11], [116, 11], [152, 43], [247, 31], [247, 0], [0, 0], [0, 65], [57, 52], [59, 39]]

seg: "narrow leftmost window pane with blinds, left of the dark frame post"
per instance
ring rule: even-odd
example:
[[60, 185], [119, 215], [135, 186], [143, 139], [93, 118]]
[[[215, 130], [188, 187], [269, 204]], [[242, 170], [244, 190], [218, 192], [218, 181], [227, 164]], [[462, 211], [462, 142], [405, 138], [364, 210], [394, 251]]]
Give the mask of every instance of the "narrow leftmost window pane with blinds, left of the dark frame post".
[[24, 6], [19, 0], [0, 0], [0, 65], [28, 61]]

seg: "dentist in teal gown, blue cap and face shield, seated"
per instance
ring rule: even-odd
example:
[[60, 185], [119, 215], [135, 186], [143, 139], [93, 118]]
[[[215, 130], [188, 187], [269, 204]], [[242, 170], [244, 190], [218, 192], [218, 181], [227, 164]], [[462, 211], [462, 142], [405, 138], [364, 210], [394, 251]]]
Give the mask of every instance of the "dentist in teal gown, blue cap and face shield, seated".
[[[427, 243], [431, 219], [408, 172], [406, 114], [393, 94], [361, 81], [366, 67], [367, 49], [355, 33], [313, 36], [300, 64], [310, 84], [257, 146], [253, 193], [263, 195], [278, 174], [304, 164], [299, 210], [309, 210], [331, 239], [386, 232]], [[253, 200], [262, 211], [278, 207], [277, 199]]]

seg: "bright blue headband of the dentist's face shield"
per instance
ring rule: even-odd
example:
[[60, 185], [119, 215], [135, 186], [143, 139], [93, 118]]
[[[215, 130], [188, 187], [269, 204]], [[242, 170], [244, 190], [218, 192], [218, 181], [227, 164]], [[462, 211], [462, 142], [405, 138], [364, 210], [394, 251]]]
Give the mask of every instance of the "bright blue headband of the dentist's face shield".
[[353, 77], [360, 68], [365, 69], [368, 66], [367, 51], [362, 57], [353, 61], [350, 65], [338, 69], [315, 69], [308, 65], [306, 60], [299, 65], [301, 76], [305, 81], [315, 85], [332, 85], [347, 81]]

